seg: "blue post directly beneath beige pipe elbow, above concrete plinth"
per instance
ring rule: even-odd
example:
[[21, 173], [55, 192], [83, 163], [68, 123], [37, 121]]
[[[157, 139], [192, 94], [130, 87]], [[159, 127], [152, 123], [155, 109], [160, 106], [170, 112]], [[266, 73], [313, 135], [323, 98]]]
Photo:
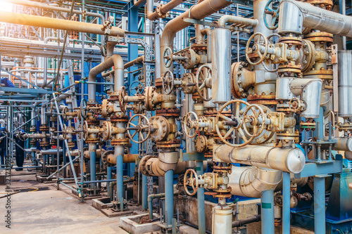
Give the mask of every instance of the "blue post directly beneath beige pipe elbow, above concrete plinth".
[[172, 224], [172, 218], [174, 216], [174, 171], [169, 170], [165, 173], [165, 213], [166, 213], [166, 224]]

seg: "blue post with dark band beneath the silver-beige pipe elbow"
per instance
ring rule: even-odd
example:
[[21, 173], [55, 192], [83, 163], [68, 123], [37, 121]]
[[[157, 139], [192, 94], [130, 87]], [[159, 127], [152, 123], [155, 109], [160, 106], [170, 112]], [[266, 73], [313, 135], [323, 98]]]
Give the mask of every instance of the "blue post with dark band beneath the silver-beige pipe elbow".
[[274, 190], [264, 190], [260, 193], [261, 214], [262, 214], [262, 233], [274, 234]]

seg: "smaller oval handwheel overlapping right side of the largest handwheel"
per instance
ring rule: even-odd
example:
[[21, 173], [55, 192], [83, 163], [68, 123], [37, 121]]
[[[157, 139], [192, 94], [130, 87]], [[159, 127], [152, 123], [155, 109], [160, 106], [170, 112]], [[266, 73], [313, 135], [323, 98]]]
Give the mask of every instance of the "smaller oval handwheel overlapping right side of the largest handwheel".
[[[248, 115], [249, 110], [251, 110], [253, 115]], [[258, 110], [258, 112], [256, 110]], [[259, 117], [261, 117], [262, 121], [260, 123], [260, 129], [258, 130], [257, 125]], [[253, 126], [253, 134], [249, 133], [249, 129], [246, 125], [247, 123], [250, 123], [251, 126]], [[251, 104], [246, 108], [243, 115], [243, 129], [248, 136], [253, 138], [262, 134], [263, 130], [265, 129], [265, 113], [263, 108], [256, 104]]]

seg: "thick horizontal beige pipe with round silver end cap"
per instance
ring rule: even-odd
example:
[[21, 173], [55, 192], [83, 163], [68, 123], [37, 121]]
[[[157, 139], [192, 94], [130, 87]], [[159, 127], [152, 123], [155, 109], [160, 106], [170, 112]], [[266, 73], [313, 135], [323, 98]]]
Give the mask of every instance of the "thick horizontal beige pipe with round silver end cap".
[[276, 148], [261, 145], [234, 148], [229, 145], [214, 145], [213, 162], [241, 163], [297, 174], [306, 164], [306, 158], [298, 148]]

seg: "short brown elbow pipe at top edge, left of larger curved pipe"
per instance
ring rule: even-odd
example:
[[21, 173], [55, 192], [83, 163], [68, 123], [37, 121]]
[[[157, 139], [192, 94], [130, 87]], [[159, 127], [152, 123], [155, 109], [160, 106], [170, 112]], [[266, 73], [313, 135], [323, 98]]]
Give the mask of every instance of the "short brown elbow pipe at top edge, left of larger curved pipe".
[[154, 0], [146, 0], [146, 17], [149, 20], [158, 20], [158, 18], [165, 18], [166, 14], [169, 11], [171, 11], [176, 6], [182, 4], [184, 1], [185, 0], [171, 0], [168, 2], [168, 4], [160, 4], [159, 6], [157, 6], [156, 11], [154, 12]]

